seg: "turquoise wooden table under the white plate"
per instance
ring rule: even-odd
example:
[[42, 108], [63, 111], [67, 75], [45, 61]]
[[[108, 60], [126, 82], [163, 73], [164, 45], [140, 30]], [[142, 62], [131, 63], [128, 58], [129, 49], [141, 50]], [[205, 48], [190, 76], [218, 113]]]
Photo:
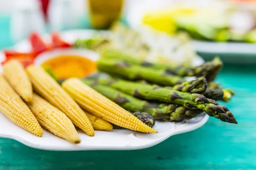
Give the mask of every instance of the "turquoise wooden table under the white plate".
[[[0, 48], [12, 45], [0, 17]], [[198, 130], [143, 150], [56, 152], [0, 138], [0, 170], [256, 169], [256, 68], [225, 65], [217, 78], [236, 96], [227, 103], [238, 125], [210, 118]]]

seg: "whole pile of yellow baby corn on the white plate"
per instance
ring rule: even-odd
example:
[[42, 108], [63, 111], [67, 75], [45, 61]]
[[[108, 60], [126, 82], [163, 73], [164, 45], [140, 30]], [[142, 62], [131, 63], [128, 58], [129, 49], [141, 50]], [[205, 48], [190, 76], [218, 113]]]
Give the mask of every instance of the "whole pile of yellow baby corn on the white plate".
[[44, 127], [69, 142], [80, 143], [75, 126], [94, 136], [94, 130], [112, 130], [111, 123], [157, 133], [79, 79], [67, 79], [61, 87], [41, 66], [25, 69], [15, 59], [6, 62], [0, 87], [0, 111], [36, 136], [43, 135]]

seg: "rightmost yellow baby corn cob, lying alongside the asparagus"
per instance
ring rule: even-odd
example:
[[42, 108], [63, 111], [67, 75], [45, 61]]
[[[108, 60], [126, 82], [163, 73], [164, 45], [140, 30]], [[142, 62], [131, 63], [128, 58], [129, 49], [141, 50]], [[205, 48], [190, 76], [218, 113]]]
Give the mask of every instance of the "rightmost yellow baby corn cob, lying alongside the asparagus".
[[99, 94], [77, 78], [67, 79], [62, 87], [86, 111], [115, 125], [146, 133], [157, 133], [110, 99]]

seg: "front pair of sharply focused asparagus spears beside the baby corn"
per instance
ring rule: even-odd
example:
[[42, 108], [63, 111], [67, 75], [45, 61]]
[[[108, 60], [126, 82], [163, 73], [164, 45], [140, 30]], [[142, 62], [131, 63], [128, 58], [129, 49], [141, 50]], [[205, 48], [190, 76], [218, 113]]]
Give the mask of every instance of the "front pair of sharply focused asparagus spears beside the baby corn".
[[[155, 119], [182, 121], [183, 119], [191, 119], [204, 111], [209, 116], [214, 116], [223, 122], [237, 123], [233, 114], [225, 106], [219, 105], [215, 100], [207, 99], [201, 94], [189, 94], [156, 85], [130, 82], [122, 79], [104, 79], [98, 77], [96, 82], [88, 78], [83, 79], [83, 82], [118, 103], [123, 108], [130, 111], [147, 112], [154, 116]], [[197, 81], [193, 80], [186, 83], [191, 85], [193, 82]], [[109, 87], [104, 87], [104, 85], [114, 88], [117, 91]], [[131, 96], [120, 93], [119, 91], [140, 99], [172, 104], [152, 105], [147, 101], [134, 97], [131, 98]]]

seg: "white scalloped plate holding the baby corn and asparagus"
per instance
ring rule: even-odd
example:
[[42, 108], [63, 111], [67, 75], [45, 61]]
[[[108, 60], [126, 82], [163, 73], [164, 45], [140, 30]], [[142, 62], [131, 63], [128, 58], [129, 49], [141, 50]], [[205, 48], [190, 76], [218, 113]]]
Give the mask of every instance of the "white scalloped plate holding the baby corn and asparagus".
[[[95, 33], [93, 30], [76, 30], [63, 32], [61, 36], [64, 40], [73, 42], [76, 38], [89, 38]], [[47, 36], [45, 37], [47, 40]], [[30, 49], [29, 42], [24, 40], [14, 46], [14, 49], [19, 51], [28, 51]], [[63, 51], [57, 50], [55, 54], [60, 54]], [[90, 50], [76, 51], [85, 56], [97, 58], [97, 55]], [[50, 52], [41, 54], [41, 57], [49, 57]], [[92, 58], [92, 59], [93, 59]], [[0, 60], [3, 60], [3, 55], [0, 55]], [[38, 59], [37, 64], [42, 60]], [[202, 63], [201, 58], [196, 58], [194, 64]], [[1, 69], [1, 67], [0, 67]], [[34, 147], [43, 150], [136, 150], [154, 146], [170, 136], [189, 132], [204, 125], [209, 116], [202, 113], [193, 119], [181, 122], [157, 122], [154, 129], [158, 131], [156, 134], [146, 134], [135, 132], [128, 129], [114, 129], [112, 131], [95, 131], [95, 136], [90, 137], [79, 131], [81, 138], [80, 144], [71, 144], [64, 139], [61, 139], [52, 133], [44, 130], [42, 137], [37, 137], [15, 125], [0, 113], [0, 137], [15, 139], [29, 147]]]

